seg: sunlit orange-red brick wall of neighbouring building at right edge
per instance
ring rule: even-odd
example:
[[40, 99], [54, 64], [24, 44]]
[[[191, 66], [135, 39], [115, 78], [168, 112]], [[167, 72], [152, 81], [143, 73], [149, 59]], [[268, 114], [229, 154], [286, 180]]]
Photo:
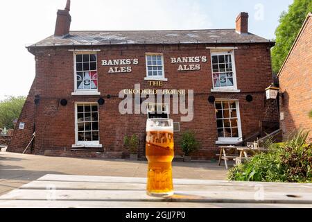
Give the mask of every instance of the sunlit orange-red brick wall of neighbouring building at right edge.
[[[299, 39], [295, 42], [293, 51], [279, 74], [281, 97], [281, 129], [284, 138], [294, 130], [305, 128], [312, 130], [312, 18], [309, 17]], [[310, 133], [310, 139], [312, 133]]]

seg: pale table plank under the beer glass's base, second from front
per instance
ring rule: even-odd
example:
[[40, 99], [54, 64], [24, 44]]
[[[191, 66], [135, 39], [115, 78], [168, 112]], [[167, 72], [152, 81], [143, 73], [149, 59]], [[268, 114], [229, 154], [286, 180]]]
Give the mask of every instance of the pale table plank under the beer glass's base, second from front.
[[169, 198], [155, 198], [146, 191], [116, 190], [43, 190], [16, 189], [0, 197], [0, 200], [102, 200], [102, 201], [153, 201], [193, 203], [302, 203], [312, 204], [312, 193], [263, 191], [263, 200], [257, 200], [257, 191], [205, 190], [180, 191]]

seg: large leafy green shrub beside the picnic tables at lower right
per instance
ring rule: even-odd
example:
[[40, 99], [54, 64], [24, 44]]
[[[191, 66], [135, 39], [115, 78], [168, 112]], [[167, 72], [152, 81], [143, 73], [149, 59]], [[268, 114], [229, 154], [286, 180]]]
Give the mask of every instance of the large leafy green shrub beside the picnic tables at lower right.
[[312, 144], [309, 132], [299, 133], [285, 143], [271, 144], [268, 153], [254, 155], [232, 168], [229, 180], [263, 182], [312, 182]]

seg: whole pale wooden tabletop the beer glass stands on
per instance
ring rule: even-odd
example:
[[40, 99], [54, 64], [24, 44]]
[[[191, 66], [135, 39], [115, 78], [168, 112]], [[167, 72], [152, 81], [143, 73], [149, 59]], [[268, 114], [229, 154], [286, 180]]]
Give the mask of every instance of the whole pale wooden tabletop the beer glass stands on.
[[0, 196], [1, 207], [312, 207], [312, 184], [174, 179], [168, 198], [146, 195], [146, 178], [46, 175]]

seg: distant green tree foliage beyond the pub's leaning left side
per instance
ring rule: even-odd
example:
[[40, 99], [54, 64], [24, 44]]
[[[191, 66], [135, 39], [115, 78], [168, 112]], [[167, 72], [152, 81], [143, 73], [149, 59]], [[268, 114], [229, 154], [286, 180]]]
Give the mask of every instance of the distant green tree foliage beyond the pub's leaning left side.
[[13, 121], [21, 114], [25, 100], [25, 96], [8, 96], [0, 101], [0, 128], [13, 128]]

